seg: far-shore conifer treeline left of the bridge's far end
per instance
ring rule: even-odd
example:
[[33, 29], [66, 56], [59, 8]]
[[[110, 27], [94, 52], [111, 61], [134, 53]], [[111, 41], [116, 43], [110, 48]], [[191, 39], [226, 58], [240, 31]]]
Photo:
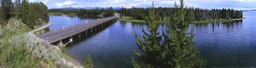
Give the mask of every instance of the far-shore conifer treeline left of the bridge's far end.
[[97, 7], [95, 10], [84, 10], [84, 9], [51, 9], [49, 12], [61, 12], [63, 14], [78, 14], [79, 16], [114, 16], [113, 7], [108, 7], [108, 9], [99, 9]]

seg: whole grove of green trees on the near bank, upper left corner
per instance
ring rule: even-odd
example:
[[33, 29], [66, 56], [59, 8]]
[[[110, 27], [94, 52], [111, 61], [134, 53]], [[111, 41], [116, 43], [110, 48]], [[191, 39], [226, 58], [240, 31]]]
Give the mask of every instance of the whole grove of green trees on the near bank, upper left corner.
[[30, 3], [27, 0], [2, 0], [1, 24], [7, 24], [11, 17], [19, 18], [30, 28], [49, 21], [48, 7], [42, 2]]

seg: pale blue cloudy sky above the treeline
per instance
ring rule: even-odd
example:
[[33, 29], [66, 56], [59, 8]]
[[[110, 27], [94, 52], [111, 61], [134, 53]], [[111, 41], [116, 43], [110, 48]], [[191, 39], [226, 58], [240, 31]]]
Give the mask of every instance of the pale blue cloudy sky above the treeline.
[[[42, 1], [49, 8], [59, 7], [150, 7], [155, 1], [157, 7], [173, 6], [178, 0], [29, 0], [32, 2]], [[206, 9], [234, 8], [238, 10], [256, 9], [256, 0], [185, 0], [185, 5]]]

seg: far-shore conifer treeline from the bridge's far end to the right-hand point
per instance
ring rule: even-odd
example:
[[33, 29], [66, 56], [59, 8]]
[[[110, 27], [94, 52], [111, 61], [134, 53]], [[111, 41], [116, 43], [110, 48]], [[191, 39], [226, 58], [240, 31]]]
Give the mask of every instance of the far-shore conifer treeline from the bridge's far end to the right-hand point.
[[[178, 6], [178, 5], [174, 5]], [[116, 10], [116, 12], [120, 13], [121, 16], [129, 16], [138, 20], [145, 20], [150, 14], [150, 7], [122, 7], [121, 10]], [[157, 7], [155, 8], [156, 13], [159, 14], [160, 20], [165, 20], [167, 16], [174, 13], [175, 7]], [[193, 14], [194, 20], [207, 20], [207, 19], [234, 19], [234, 18], [242, 18], [242, 11], [233, 10], [233, 9], [200, 9], [198, 7], [186, 7], [185, 10], [191, 11]]]

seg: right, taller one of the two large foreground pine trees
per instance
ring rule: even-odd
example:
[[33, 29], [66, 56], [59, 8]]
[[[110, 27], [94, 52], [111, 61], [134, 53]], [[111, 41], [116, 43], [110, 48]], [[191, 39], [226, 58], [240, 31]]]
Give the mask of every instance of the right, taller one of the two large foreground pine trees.
[[[199, 58], [199, 51], [193, 46], [193, 33], [187, 33], [189, 24], [193, 22], [190, 10], [185, 10], [183, 0], [180, 7], [176, 7], [167, 23], [167, 57], [174, 62], [176, 68], [202, 68], [205, 63]], [[193, 31], [192, 31], [193, 32]], [[190, 36], [188, 36], [190, 35]]]

